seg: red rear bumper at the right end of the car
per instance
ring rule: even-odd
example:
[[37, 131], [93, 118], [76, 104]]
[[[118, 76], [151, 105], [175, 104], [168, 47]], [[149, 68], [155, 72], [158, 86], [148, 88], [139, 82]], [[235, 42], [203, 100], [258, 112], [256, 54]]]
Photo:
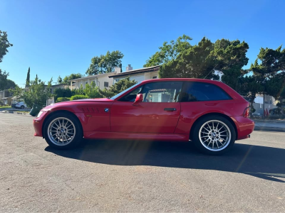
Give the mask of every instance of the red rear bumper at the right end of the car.
[[237, 140], [249, 138], [249, 134], [254, 131], [254, 121], [243, 116], [232, 116], [232, 120], [237, 126]]

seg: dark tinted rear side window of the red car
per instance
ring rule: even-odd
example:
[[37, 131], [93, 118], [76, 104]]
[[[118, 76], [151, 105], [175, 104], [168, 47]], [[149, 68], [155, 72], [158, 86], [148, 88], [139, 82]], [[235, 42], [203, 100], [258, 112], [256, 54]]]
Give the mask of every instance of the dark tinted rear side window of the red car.
[[203, 82], [185, 82], [181, 102], [207, 102], [218, 100], [229, 100], [229, 94], [220, 87]]

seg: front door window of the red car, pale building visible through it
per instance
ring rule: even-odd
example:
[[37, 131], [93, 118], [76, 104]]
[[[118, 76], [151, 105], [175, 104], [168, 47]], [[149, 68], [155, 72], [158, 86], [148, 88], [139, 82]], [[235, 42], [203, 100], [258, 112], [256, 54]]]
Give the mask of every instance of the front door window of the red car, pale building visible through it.
[[153, 82], [145, 84], [142, 93], [143, 102], [177, 102], [182, 82]]

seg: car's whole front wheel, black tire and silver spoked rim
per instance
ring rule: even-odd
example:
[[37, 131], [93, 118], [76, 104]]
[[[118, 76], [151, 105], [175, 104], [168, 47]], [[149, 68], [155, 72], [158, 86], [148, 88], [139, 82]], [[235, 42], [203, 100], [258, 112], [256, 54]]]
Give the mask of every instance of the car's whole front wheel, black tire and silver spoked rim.
[[43, 133], [48, 145], [57, 149], [74, 148], [83, 137], [81, 124], [66, 112], [49, 117], [43, 126]]

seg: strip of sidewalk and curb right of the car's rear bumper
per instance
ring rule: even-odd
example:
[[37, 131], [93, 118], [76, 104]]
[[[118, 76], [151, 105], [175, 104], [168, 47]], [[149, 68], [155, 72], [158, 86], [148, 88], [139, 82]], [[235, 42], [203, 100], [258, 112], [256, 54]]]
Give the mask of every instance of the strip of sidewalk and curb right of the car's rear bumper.
[[254, 122], [254, 130], [285, 132], [285, 121], [255, 120]]

